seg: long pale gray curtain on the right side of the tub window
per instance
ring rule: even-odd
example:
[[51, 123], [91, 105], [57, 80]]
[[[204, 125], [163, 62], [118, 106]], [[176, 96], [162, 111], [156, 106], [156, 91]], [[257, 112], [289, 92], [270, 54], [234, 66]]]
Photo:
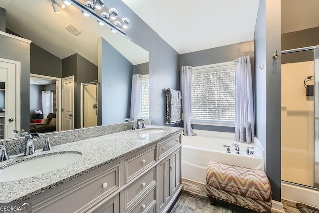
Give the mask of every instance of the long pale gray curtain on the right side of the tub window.
[[235, 61], [235, 140], [254, 143], [254, 108], [250, 57]]

